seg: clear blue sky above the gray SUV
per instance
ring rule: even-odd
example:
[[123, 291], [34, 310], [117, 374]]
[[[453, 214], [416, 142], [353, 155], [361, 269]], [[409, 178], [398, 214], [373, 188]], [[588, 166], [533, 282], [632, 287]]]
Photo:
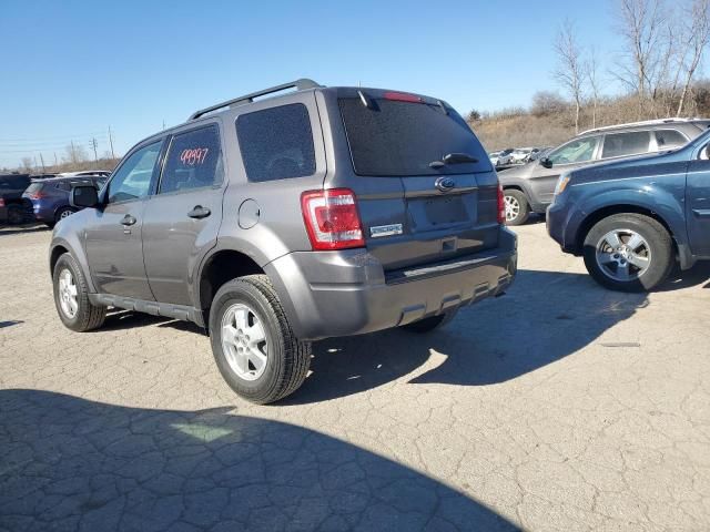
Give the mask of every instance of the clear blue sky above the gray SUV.
[[552, 89], [565, 18], [604, 59], [611, 0], [28, 1], [0, 9], [0, 166], [116, 152], [195, 109], [301, 76], [409, 90], [459, 112], [527, 105]]

